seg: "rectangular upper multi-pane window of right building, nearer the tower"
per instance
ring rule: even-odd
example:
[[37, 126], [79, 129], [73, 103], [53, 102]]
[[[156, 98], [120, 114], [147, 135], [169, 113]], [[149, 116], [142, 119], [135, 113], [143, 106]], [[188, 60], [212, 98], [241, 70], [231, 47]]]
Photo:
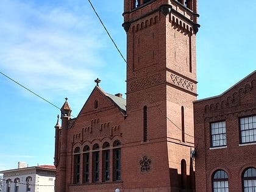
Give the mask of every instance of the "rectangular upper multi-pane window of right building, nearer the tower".
[[226, 146], [226, 122], [211, 123], [212, 147]]

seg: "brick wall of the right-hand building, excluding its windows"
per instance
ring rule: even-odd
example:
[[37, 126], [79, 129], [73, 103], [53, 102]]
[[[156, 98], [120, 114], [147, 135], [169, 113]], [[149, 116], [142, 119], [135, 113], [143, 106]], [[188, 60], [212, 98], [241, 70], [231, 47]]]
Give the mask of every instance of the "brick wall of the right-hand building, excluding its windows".
[[[256, 115], [254, 72], [215, 98], [194, 102], [196, 140], [196, 190], [211, 191], [212, 175], [223, 169], [229, 176], [229, 191], [242, 191], [243, 171], [254, 167], [255, 144], [240, 144], [240, 117]], [[210, 148], [210, 123], [226, 121], [227, 147]]]

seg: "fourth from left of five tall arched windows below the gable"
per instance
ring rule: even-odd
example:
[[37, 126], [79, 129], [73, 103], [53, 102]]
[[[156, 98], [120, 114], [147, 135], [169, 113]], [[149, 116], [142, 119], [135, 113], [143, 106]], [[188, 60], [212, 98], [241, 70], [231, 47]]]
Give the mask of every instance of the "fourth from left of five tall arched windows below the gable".
[[110, 150], [109, 143], [105, 142], [102, 146], [102, 181], [110, 180]]

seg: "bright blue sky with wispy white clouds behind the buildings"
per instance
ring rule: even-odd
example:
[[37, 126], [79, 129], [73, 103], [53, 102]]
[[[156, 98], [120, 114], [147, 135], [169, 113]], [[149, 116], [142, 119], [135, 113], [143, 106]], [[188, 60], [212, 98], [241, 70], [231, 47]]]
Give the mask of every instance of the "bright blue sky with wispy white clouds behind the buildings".
[[[256, 69], [256, 1], [198, 1], [197, 99], [203, 99]], [[91, 3], [126, 58], [123, 1]], [[87, 0], [1, 0], [0, 72], [20, 84], [0, 73], [0, 171], [18, 162], [53, 165], [59, 108], [67, 97], [76, 117], [94, 79], [107, 93], [126, 93], [126, 62]]]

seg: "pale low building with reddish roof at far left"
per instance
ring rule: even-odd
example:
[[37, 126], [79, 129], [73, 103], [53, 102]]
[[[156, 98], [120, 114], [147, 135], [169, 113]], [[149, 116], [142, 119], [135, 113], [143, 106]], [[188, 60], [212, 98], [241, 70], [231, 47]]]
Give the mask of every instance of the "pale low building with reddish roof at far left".
[[40, 165], [0, 171], [4, 174], [3, 192], [54, 192], [55, 166]]

